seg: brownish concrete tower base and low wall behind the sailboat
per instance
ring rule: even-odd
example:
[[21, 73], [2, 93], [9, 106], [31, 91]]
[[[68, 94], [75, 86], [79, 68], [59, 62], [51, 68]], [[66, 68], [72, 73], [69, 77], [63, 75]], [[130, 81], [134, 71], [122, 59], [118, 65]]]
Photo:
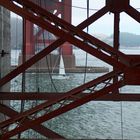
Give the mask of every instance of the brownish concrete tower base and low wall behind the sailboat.
[[[27, 60], [32, 56], [27, 56]], [[75, 64], [75, 56], [74, 55], [65, 55], [64, 58], [64, 66], [66, 73], [84, 73], [85, 66], [76, 66]], [[22, 56], [19, 56], [19, 65], [22, 64]], [[47, 57], [41, 59], [36, 64], [32, 65], [26, 72], [40, 72], [40, 73], [58, 73], [59, 71], [59, 62], [60, 55], [49, 54]], [[11, 69], [15, 69], [17, 66], [12, 66]], [[48, 68], [49, 67], [49, 68]], [[105, 73], [109, 72], [108, 67], [86, 67], [87, 73]]]

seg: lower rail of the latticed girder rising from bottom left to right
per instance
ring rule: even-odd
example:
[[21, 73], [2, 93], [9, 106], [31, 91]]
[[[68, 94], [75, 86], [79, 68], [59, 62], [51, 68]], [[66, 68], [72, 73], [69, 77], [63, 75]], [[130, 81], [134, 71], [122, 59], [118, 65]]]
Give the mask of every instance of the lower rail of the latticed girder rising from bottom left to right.
[[19, 126], [18, 128], [15, 128], [14, 130], [11, 130], [11, 131], [5, 133], [2, 136], [2, 138], [3, 139], [10, 138], [10, 137], [12, 137], [20, 132], [23, 132], [23, 131], [25, 131], [25, 130], [27, 130], [35, 125], [41, 124], [47, 120], [52, 119], [53, 117], [56, 117], [60, 114], [63, 114], [65, 112], [69, 111], [69, 110], [72, 110], [73, 108], [81, 106], [81, 105], [83, 105], [83, 104], [85, 104], [93, 99], [99, 98], [103, 95], [107, 95], [109, 92], [113, 91], [116, 88], [120, 88], [122, 85], [123, 85], [123, 82], [120, 81], [120, 82], [112, 84], [112, 85], [110, 85], [110, 86], [108, 86], [100, 91], [97, 91], [94, 94], [87, 95], [87, 96], [85, 96], [81, 99], [78, 99], [78, 100], [76, 100], [76, 101], [74, 101], [74, 102], [72, 102], [72, 103], [70, 103], [62, 108], [54, 110], [49, 114], [45, 114], [39, 118], [36, 118], [35, 120], [32, 120], [31, 122], [24, 123], [23, 125]]

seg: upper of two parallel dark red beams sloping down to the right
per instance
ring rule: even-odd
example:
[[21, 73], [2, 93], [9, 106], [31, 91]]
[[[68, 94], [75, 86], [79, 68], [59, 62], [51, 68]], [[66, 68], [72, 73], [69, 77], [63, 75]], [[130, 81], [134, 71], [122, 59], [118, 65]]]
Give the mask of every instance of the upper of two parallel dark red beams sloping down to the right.
[[[84, 39], [84, 41], [90, 41], [90, 43], [93, 43], [93, 45], [100, 46], [100, 48], [103, 48], [104, 51], [107, 51], [108, 53], [114, 53], [114, 54], [118, 55], [120, 57], [120, 60], [122, 60], [122, 62], [124, 62], [126, 65], [129, 65], [130, 59], [125, 54], [114, 50], [108, 44], [100, 41], [99, 39], [83, 32], [83, 31], [81, 31], [81, 29], [78, 29], [78, 27], [74, 27], [73, 25], [71, 25], [68, 22], [65, 22], [64, 20], [54, 16], [53, 14], [49, 13], [48, 11], [45, 12], [44, 9], [41, 9], [37, 5], [30, 3], [30, 1], [28, 1], [28, 0], [26, 0], [24, 2], [21, 0], [15, 0], [15, 1], [19, 2], [20, 4], [24, 4], [25, 7], [26, 6], [29, 7], [29, 5], [30, 5], [31, 9], [34, 9], [37, 12], [37, 14], [42, 15], [43, 17], [44, 16], [47, 17], [47, 19], [50, 20], [50, 22], [55, 22], [57, 25], [64, 27], [65, 30], [68, 30], [71, 33], [73, 32], [72, 34], [79, 35], [79, 37]], [[108, 8], [108, 11], [109, 11], [109, 8]], [[72, 40], [69, 40], [69, 41], [71, 42]], [[77, 46], [79, 46], [79, 45], [77, 45]], [[81, 48], [81, 49], [83, 49], [83, 48]]]

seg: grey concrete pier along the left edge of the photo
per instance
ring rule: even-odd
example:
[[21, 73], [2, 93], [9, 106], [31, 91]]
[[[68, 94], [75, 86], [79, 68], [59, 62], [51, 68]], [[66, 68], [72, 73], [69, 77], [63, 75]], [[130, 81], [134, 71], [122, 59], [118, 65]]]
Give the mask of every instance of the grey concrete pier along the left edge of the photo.
[[[0, 78], [4, 77], [10, 71], [10, 12], [0, 7]], [[10, 91], [10, 83], [0, 87], [0, 92]], [[9, 101], [1, 101], [1, 103], [9, 105]], [[5, 116], [0, 114], [0, 121]]]

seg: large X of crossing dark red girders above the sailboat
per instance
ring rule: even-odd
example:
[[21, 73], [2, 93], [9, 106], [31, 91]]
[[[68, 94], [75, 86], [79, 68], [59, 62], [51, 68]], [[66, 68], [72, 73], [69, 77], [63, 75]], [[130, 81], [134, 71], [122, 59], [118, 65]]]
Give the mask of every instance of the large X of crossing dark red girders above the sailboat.
[[[27, 18], [28, 20], [34, 22], [35, 24], [41, 26], [42, 28], [45, 28], [45, 29], [49, 30], [50, 32], [60, 36], [62, 39], [56, 40], [53, 44], [49, 45], [46, 49], [42, 50], [37, 55], [33, 56], [31, 59], [26, 61], [23, 65], [19, 66], [17, 69], [13, 70], [7, 76], [3, 77], [0, 80], [0, 86], [4, 85], [9, 80], [16, 77], [18, 74], [24, 72], [27, 68], [29, 68], [35, 62], [37, 62], [38, 60], [40, 60], [41, 58], [43, 58], [44, 56], [49, 54], [51, 51], [56, 49], [58, 46], [63, 44], [65, 42], [64, 40], [73, 43], [74, 45], [76, 45], [79, 48], [83, 49], [84, 51], [90, 53], [91, 55], [94, 55], [97, 58], [107, 62], [108, 64], [116, 66], [117, 68], [120, 68], [120, 69], [125, 68], [123, 63], [130, 65], [131, 61], [125, 54], [123, 54], [119, 51], [116, 51], [114, 48], [110, 47], [106, 43], [104, 43], [104, 42], [94, 38], [93, 36], [90, 36], [80, 30], [80, 29], [84, 29], [85, 27], [87, 27], [88, 26], [87, 23], [91, 24], [92, 23], [91, 20], [94, 22], [95, 20], [97, 20], [98, 18], [103, 16], [105, 13], [107, 13], [109, 11], [108, 7], [104, 7], [103, 9], [101, 9], [98, 12], [99, 14], [97, 14], [98, 16], [96, 15], [97, 16], [96, 19], [92, 18], [92, 16], [91, 16], [89, 19], [87, 19], [87, 21], [83, 22], [76, 28], [76, 27], [70, 25], [69, 23], [63, 21], [62, 19], [59, 19], [58, 17], [45, 11], [44, 9], [36, 6], [35, 4], [32, 4], [28, 0], [27, 1], [18, 0], [18, 2], [19, 2], [19, 4], [24, 4], [23, 7], [26, 7], [26, 6], [31, 7], [31, 9], [33, 11], [37, 10], [37, 13], [36, 14], [31, 13], [31, 11], [28, 12], [25, 8], [19, 7], [15, 3], [13, 3], [12, 1], [9, 1], [9, 0], [5, 0], [5, 1], [2, 0], [2, 1], [0, 1], [0, 4], [9, 8], [10, 10], [13, 10], [17, 14], [23, 16], [24, 18]], [[49, 22], [44, 20], [42, 17], [46, 17], [46, 13], [47, 13], [47, 18], [46, 18], [47, 20], [49, 18], [50, 22], [54, 22], [55, 21], [54, 19], [56, 18], [56, 21], [55, 21], [56, 25], [57, 26], [59, 25], [60, 27], [62, 26], [63, 28], [65, 27], [65, 30], [68, 29], [67, 32], [71, 32], [71, 33], [64, 32], [63, 30], [60, 30], [59, 28], [51, 25]], [[41, 14], [41, 16], [40, 16], [40, 14]], [[36, 15], [38, 15], [39, 17]], [[93, 17], [94, 17], [94, 15], [93, 15]], [[62, 21], [62, 23], [61, 23], [61, 21]], [[76, 37], [72, 36], [71, 34], [76, 34]], [[83, 41], [80, 41], [79, 39], [77, 39], [78, 35], [80, 38], [84, 37], [84, 38], [82, 38]], [[81, 35], [83, 35], [83, 36], [81, 36]], [[85, 41], [86, 42], [89, 41], [89, 44], [91, 44], [91, 45], [85, 43]], [[97, 45], [97, 47], [94, 48], [93, 45]], [[120, 61], [118, 62], [114, 57], [112, 57], [113, 55], [117, 55], [117, 57], [119, 58]], [[122, 60], [122, 63], [121, 63], [121, 60]]]

